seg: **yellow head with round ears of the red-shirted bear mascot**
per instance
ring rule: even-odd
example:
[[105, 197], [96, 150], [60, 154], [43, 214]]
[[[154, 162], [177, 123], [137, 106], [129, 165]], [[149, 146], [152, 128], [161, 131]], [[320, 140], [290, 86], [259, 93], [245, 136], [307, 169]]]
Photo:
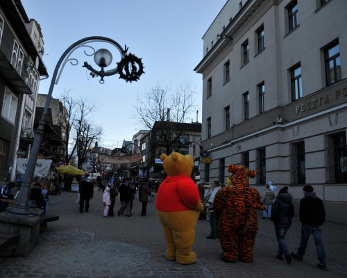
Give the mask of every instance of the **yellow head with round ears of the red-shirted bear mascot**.
[[192, 156], [183, 156], [177, 152], [172, 152], [169, 156], [162, 154], [160, 160], [164, 166], [165, 172], [169, 177], [174, 176], [188, 176], [192, 174], [194, 167], [194, 160]]

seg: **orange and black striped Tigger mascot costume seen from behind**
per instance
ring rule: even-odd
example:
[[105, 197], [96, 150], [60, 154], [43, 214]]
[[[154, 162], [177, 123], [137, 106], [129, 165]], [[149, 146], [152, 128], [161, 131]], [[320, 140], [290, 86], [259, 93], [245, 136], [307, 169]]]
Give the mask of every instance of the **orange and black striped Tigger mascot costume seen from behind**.
[[228, 186], [221, 188], [214, 197], [214, 217], [219, 220], [218, 236], [223, 253], [222, 261], [236, 263], [253, 260], [253, 246], [258, 231], [257, 209], [266, 210], [260, 204], [260, 195], [249, 186], [248, 177], [255, 177], [254, 170], [244, 166], [228, 165], [232, 176]]

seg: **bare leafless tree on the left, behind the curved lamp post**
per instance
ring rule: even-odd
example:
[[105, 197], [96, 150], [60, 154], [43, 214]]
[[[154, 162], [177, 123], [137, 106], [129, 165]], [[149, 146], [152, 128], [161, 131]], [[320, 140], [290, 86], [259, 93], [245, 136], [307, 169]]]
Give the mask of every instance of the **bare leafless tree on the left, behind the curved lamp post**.
[[[78, 167], [81, 167], [90, 147], [96, 140], [101, 139], [103, 133], [102, 126], [94, 126], [90, 120], [96, 104], [85, 97], [74, 99], [69, 95], [69, 91], [65, 91], [60, 99], [62, 106], [66, 109], [65, 122], [62, 124], [62, 129], [65, 129], [66, 133], [65, 163], [68, 164], [71, 161], [76, 151]], [[68, 149], [69, 145], [72, 147], [71, 152]]]

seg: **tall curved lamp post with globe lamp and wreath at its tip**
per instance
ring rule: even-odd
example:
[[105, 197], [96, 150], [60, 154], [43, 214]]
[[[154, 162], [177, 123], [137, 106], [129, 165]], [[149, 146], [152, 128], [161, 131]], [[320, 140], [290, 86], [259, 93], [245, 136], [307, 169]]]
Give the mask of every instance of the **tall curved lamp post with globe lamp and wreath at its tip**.
[[[119, 63], [117, 63], [117, 67], [113, 70], [105, 71], [104, 68], [108, 67], [108, 65], [110, 65], [110, 63], [112, 62], [112, 54], [107, 49], [99, 49], [98, 51], [95, 51], [93, 47], [91, 47], [90, 45], [86, 45], [87, 43], [90, 43], [90, 42], [107, 42], [109, 44], [112, 44], [114, 47], [116, 47], [121, 54], [121, 60]], [[125, 47], [125, 49], [123, 49], [120, 46], [120, 44], [115, 42], [115, 40], [111, 40], [110, 38], [105, 38], [105, 37], [94, 36], [94, 37], [83, 38], [81, 40], [78, 40], [74, 44], [71, 44], [71, 46], [64, 52], [64, 54], [62, 54], [62, 56], [58, 60], [56, 69], [54, 70], [53, 77], [51, 80], [51, 85], [49, 87], [49, 93], [46, 98], [46, 104], [44, 106], [44, 111], [42, 113], [42, 118], [37, 128], [37, 131], [35, 133], [33, 147], [31, 148], [31, 154], [28, 158], [28, 165], [26, 167], [26, 171], [24, 174], [22, 187], [21, 187], [21, 190], [19, 190], [19, 195], [16, 199], [15, 204], [12, 206], [12, 208], [9, 211], [10, 213], [15, 213], [17, 215], [22, 215], [22, 216], [31, 216], [31, 213], [28, 210], [28, 199], [29, 199], [30, 190], [31, 190], [31, 183], [33, 181], [33, 174], [35, 171], [37, 155], [39, 154], [42, 138], [44, 137], [44, 126], [46, 124], [45, 122], [46, 114], [49, 108], [49, 102], [51, 101], [53, 88], [55, 84], [58, 84], [60, 74], [62, 73], [62, 70], [64, 69], [67, 62], [70, 62], [71, 65], [78, 64], [78, 60], [76, 58], [69, 58], [69, 57], [76, 49], [80, 47], [89, 47], [90, 49], [93, 50], [92, 54], [87, 54], [85, 51], [84, 53], [87, 56], [94, 56], [94, 61], [96, 65], [101, 67], [101, 70], [100, 71], [94, 70], [94, 68], [91, 65], [89, 65], [87, 62], [84, 63], [83, 67], [87, 67], [87, 69], [93, 72], [95, 75], [100, 76], [101, 79], [99, 82], [101, 84], [105, 82], [103, 80], [105, 76], [119, 74], [120, 79], [124, 79], [126, 80], [126, 82], [128, 81], [132, 82], [132, 81], [137, 81], [139, 79], [139, 76], [144, 74], [144, 71], [143, 71], [144, 67], [141, 61], [142, 59], [137, 58], [133, 54], [127, 54], [126, 52], [128, 51], [128, 48]], [[62, 67], [60, 69], [61, 65]], [[58, 74], [59, 69], [60, 69], [60, 72]]]

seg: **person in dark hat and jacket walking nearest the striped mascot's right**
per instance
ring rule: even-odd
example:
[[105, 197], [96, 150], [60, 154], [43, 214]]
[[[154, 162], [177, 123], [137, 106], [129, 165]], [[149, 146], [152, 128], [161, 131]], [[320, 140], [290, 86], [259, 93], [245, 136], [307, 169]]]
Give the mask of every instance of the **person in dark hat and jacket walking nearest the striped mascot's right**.
[[272, 205], [271, 221], [275, 225], [278, 241], [278, 254], [276, 258], [282, 260], [283, 254], [288, 264], [291, 263], [291, 254], [285, 244], [285, 235], [291, 226], [291, 218], [294, 217], [294, 206], [291, 203], [293, 196], [288, 193], [288, 186], [281, 188]]

